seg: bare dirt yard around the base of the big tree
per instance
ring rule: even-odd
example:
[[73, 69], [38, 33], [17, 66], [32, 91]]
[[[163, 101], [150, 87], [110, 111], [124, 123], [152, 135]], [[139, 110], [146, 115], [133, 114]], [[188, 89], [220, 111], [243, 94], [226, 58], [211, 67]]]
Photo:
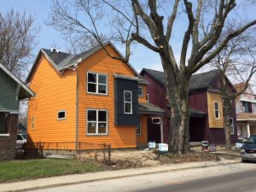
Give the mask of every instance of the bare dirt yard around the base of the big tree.
[[[89, 154], [90, 159], [96, 159], [98, 162], [103, 160], [103, 154]], [[95, 157], [96, 155], [96, 157]], [[88, 156], [87, 156], [88, 157]], [[139, 168], [145, 166], [157, 166], [162, 164], [177, 164], [183, 162], [195, 162], [206, 160], [221, 160], [221, 159], [237, 159], [240, 158], [238, 150], [226, 151], [224, 148], [218, 147], [216, 152], [202, 152], [201, 148], [192, 148], [191, 153], [183, 155], [162, 154], [155, 150], [112, 150], [110, 169], [127, 169]], [[106, 154], [108, 160], [108, 154]]]

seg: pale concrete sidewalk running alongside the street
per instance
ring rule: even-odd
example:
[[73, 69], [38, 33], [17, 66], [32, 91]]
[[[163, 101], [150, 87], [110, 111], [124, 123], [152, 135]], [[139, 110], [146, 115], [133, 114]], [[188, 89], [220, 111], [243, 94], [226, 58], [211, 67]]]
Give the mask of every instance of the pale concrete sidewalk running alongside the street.
[[208, 166], [220, 166], [239, 163], [241, 160], [219, 160], [219, 161], [202, 161], [193, 163], [183, 163], [183, 164], [167, 164], [154, 167], [143, 167], [138, 169], [126, 169], [118, 171], [107, 171], [107, 172], [92, 172], [84, 174], [67, 175], [60, 177], [46, 177], [39, 178], [36, 180], [29, 180], [24, 182], [16, 183], [3, 183], [0, 184], [0, 191], [26, 191], [32, 189], [44, 189], [55, 186], [63, 186], [74, 183], [87, 183], [100, 181], [105, 179], [113, 179], [119, 177], [132, 177], [139, 176], [150, 173], [158, 172], [171, 172], [184, 169], [192, 169], [199, 167]]

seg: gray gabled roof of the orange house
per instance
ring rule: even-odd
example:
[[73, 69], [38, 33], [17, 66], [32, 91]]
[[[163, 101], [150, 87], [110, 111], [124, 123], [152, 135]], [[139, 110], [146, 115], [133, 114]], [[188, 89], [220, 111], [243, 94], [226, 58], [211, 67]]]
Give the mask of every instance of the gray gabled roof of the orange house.
[[[118, 49], [110, 42], [106, 42], [103, 44], [103, 46], [110, 45], [118, 54], [120, 57], [125, 58]], [[45, 55], [46, 59], [51, 63], [51, 65], [55, 68], [56, 71], [61, 72], [64, 69], [69, 69], [70, 67], [75, 67], [76, 65], [79, 65], [81, 61], [84, 61], [87, 59], [90, 55], [95, 54], [98, 50], [102, 49], [101, 45], [96, 45], [95, 47], [88, 49], [79, 55], [72, 55], [68, 53], [63, 52], [53, 52], [49, 49], [41, 49], [38, 53], [38, 57], [36, 61], [34, 62], [32, 69], [30, 73], [28, 74], [28, 77], [26, 79], [26, 82], [29, 82], [32, 78], [32, 73], [36, 68], [36, 65], [38, 63], [38, 60], [40, 59], [40, 56], [42, 54]], [[131, 70], [137, 75], [138, 78], [143, 79], [143, 77], [137, 73], [137, 71], [131, 66], [129, 62], [126, 63], [128, 67], [131, 68]]]

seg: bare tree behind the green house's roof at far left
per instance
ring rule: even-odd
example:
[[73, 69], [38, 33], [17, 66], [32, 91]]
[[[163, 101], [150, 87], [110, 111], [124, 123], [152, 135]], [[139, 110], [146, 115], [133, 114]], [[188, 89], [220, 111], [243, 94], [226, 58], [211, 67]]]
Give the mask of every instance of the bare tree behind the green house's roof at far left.
[[14, 9], [0, 13], [0, 62], [19, 78], [26, 75], [38, 32], [33, 15]]

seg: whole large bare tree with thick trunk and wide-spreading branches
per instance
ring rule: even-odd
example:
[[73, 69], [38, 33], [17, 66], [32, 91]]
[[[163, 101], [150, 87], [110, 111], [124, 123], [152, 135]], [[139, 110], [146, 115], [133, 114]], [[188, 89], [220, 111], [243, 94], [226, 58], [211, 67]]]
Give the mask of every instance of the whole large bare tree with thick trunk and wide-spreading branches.
[[[243, 2], [241, 2], [243, 3]], [[225, 22], [236, 17], [236, 0], [54, 0], [48, 24], [62, 34], [84, 33], [102, 45], [101, 34], [125, 44], [125, 58], [107, 54], [127, 62], [131, 44], [143, 44], [158, 53], [166, 78], [166, 90], [171, 105], [169, 149], [182, 154], [189, 151], [189, 79], [224, 49], [230, 39], [256, 24], [255, 18], [226, 34], [221, 42]], [[179, 26], [183, 24], [183, 27]], [[177, 29], [179, 32], [176, 32]], [[173, 34], [183, 33], [180, 60], [173, 52]], [[176, 32], [176, 33], [175, 33]], [[176, 38], [177, 38], [176, 37]], [[104, 47], [103, 47], [104, 49]], [[190, 54], [189, 54], [189, 50]]]

